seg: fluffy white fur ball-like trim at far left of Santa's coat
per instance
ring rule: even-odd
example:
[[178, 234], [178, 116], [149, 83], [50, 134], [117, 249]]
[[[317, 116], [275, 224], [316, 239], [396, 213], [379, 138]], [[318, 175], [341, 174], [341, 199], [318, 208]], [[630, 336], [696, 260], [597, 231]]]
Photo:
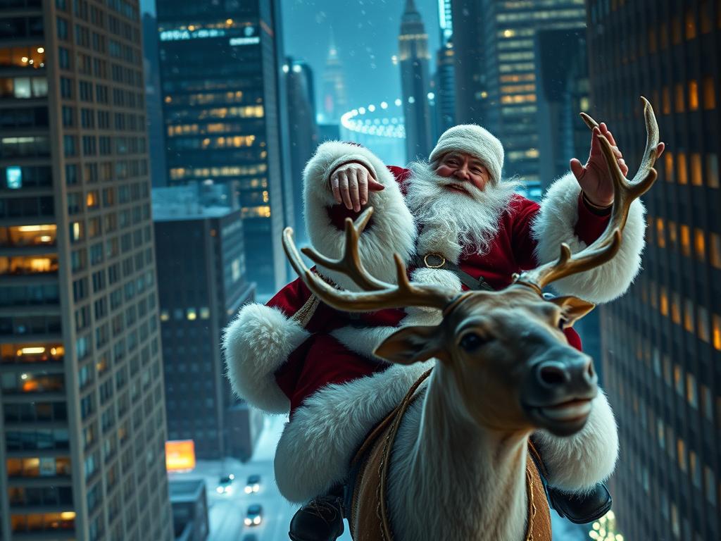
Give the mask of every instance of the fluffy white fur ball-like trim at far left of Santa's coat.
[[287, 413], [290, 402], [275, 371], [310, 336], [279, 309], [247, 304], [226, 327], [226, 375], [236, 395], [268, 413]]

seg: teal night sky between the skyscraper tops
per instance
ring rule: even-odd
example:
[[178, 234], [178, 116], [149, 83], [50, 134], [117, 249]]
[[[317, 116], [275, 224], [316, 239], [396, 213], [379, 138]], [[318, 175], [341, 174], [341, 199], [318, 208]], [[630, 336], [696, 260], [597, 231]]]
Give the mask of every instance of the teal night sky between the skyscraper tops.
[[[310, 64], [318, 93], [332, 27], [350, 107], [395, 100], [400, 95], [400, 69], [391, 57], [398, 52], [405, 4], [406, 0], [282, 0], [286, 55]], [[440, 41], [438, 0], [415, 0], [415, 5], [435, 58]], [[155, 1], [141, 0], [141, 7], [154, 12]]]

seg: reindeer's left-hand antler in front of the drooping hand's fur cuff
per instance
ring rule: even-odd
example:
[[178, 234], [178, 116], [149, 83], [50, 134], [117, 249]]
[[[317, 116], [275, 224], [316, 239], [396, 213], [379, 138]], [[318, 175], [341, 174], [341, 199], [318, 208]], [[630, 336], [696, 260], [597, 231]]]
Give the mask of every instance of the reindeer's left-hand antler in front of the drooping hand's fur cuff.
[[345, 246], [341, 258], [337, 260], [326, 258], [313, 248], [302, 250], [314, 263], [345, 274], [364, 291], [356, 293], [335, 289], [317, 273], [306, 267], [295, 242], [293, 242], [293, 229], [286, 227], [283, 231], [283, 248], [298, 276], [323, 302], [348, 312], [373, 312], [383, 308], [410, 306], [445, 308], [456, 297], [457, 292], [441, 286], [411, 283], [408, 281], [403, 260], [398, 254], [394, 254], [398, 285], [373, 278], [366, 271], [358, 255], [358, 237], [368, 224], [371, 214], [373, 214], [373, 207], [367, 208], [358, 217], [355, 224], [350, 218], [345, 219]]

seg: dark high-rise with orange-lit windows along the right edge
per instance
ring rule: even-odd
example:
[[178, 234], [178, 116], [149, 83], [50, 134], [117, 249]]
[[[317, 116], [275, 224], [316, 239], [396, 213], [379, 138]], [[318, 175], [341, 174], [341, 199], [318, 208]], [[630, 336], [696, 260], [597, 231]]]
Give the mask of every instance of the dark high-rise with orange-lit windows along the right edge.
[[720, 39], [718, 1], [588, 2], [591, 114], [632, 173], [640, 95], [666, 144], [644, 196], [643, 271], [601, 315], [621, 440], [611, 491], [629, 540], [721, 539]]

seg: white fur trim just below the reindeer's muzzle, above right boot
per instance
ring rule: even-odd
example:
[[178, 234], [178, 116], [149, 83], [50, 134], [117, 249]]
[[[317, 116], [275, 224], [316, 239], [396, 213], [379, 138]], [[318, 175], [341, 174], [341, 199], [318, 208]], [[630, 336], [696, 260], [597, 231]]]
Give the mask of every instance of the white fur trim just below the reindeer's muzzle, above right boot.
[[549, 472], [550, 485], [562, 491], [583, 493], [610, 477], [619, 456], [616, 419], [606, 395], [599, 390], [592, 401], [585, 426], [573, 436], [553, 436], [547, 431], [534, 433]]

